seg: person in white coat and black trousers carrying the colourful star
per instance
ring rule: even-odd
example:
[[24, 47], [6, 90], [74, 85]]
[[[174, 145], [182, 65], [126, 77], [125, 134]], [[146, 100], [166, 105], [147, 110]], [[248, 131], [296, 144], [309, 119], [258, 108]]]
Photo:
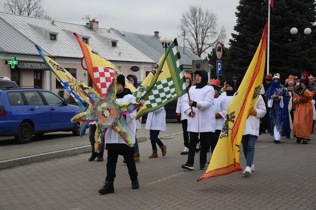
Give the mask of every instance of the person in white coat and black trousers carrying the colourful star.
[[[125, 86], [125, 77], [120, 74], [117, 77], [117, 94], [116, 94], [116, 102], [118, 103], [130, 103], [136, 102], [135, 97], [132, 95], [132, 92], [128, 88], [124, 88]], [[130, 139], [135, 144], [135, 136], [136, 136], [136, 111], [131, 112], [130, 114], [126, 114], [125, 116], [121, 116], [120, 122], [122, 123], [125, 130], [130, 135]], [[130, 179], [132, 182], [132, 189], [138, 189], [138, 173], [136, 170], [136, 165], [134, 161], [134, 146], [131, 147], [124, 143], [124, 140], [116, 133], [113, 129], [106, 130], [106, 150], [107, 150], [107, 163], [106, 163], [106, 179], [103, 187], [99, 190], [101, 194], [114, 193], [114, 178], [116, 177], [116, 163], [119, 155], [124, 157], [124, 160], [127, 164], [128, 173], [130, 175]]]

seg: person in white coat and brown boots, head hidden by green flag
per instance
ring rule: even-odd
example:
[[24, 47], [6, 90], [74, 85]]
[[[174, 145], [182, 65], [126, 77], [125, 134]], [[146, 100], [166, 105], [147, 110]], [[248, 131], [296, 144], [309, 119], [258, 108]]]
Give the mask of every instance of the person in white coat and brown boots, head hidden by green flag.
[[167, 146], [158, 138], [160, 131], [167, 131], [166, 110], [164, 107], [148, 113], [145, 129], [149, 130], [150, 143], [153, 150], [153, 154], [149, 158], [158, 157], [156, 144], [161, 149], [161, 155], [165, 156], [167, 154]]

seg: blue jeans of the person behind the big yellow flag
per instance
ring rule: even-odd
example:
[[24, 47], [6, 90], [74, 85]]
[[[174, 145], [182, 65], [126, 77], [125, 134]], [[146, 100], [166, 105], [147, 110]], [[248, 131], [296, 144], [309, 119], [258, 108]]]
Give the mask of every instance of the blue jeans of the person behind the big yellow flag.
[[241, 139], [242, 149], [246, 157], [246, 165], [251, 167], [253, 164], [253, 157], [255, 156], [255, 144], [257, 136], [254, 135], [243, 135]]

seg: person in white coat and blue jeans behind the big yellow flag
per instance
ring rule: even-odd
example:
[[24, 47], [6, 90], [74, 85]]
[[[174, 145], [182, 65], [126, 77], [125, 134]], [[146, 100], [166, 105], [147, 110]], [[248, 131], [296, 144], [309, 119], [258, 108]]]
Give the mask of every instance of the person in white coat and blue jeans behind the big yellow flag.
[[255, 170], [253, 165], [253, 158], [255, 155], [255, 144], [259, 136], [260, 118], [267, 112], [265, 103], [261, 95], [253, 107], [251, 115], [247, 118], [244, 133], [241, 139], [242, 149], [246, 157], [246, 167], [243, 172], [244, 175], [250, 176], [251, 172]]

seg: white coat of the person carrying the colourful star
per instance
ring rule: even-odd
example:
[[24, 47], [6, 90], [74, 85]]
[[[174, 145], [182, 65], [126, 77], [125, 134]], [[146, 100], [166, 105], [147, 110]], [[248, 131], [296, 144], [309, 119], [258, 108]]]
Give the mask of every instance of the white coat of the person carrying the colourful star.
[[[131, 94], [125, 95], [122, 99], [116, 99], [115, 101], [118, 103], [136, 102], [135, 97]], [[135, 143], [135, 136], [136, 136], [135, 117], [136, 117], [136, 110], [130, 114], [127, 114], [126, 116], [121, 116], [121, 119], [120, 119], [123, 127], [125, 128], [127, 133], [130, 135], [130, 139], [133, 144]], [[119, 135], [115, 133], [113, 129], [109, 129], [109, 128], [106, 131], [105, 143], [106, 144], [113, 144], [113, 143], [125, 144], [124, 140], [121, 137], [119, 137]]]

